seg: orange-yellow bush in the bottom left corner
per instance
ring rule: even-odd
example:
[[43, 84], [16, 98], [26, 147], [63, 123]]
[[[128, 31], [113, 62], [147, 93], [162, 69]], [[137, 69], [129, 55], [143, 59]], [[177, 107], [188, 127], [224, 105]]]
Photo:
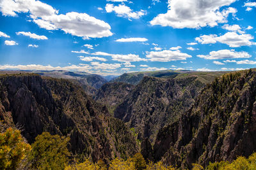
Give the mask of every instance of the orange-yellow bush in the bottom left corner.
[[0, 134], [0, 169], [17, 169], [30, 150], [19, 130], [7, 129]]

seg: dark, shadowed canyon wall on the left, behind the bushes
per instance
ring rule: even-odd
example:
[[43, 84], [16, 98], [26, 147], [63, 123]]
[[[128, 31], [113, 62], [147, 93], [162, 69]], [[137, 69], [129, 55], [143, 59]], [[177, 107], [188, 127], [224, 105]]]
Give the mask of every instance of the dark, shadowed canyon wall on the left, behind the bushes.
[[33, 143], [44, 131], [70, 136], [70, 150], [108, 162], [138, 152], [124, 123], [110, 117], [106, 106], [96, 103], [70, 81], [41, 78], [36, 74], [0, 76], [0, 118], [22, 127]]

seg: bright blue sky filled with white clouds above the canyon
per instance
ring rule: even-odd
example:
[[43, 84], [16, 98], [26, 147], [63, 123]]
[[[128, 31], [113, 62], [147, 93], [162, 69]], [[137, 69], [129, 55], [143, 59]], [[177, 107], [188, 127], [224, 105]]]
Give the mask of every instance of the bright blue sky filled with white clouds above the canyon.
[[0, 0], [0, 69], [247, 69], [255, 11], [254, 0]]

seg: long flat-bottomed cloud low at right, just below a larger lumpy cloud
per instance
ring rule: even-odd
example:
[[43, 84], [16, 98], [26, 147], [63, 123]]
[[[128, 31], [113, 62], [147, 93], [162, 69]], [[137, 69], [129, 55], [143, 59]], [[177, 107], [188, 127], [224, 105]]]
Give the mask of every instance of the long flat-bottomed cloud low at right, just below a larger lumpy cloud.
[[214, 60], [214, 59], [250, 58], [252, 57], [252, 55], [250, 55], [248, 52], [234, 52], [232, 50], [219, 50], [219, 51], [212, 51], [209, 53], [209, 55], [197, 55], [197, 57]]

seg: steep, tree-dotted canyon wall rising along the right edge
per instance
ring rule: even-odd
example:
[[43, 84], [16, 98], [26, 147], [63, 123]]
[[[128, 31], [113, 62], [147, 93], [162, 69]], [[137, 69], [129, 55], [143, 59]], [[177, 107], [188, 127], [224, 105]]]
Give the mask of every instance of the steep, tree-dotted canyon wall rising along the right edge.
[[225, 74], [207, 85], [195, 105], [159, 131], [154, 159], [188, 167], [234, 160], [256, 151], [256, 72]]

